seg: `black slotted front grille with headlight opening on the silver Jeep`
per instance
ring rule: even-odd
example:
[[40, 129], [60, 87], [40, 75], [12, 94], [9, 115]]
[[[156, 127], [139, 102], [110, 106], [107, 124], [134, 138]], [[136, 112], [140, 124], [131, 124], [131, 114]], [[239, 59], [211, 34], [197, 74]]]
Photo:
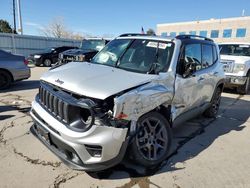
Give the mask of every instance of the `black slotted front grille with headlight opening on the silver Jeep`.
[[84, 132], [95, 122], [93, 107], [96, 105], [90, 99], [82, 99], [56, 86], [41, 82], [36, 100], [54, 118], [69, 129]]

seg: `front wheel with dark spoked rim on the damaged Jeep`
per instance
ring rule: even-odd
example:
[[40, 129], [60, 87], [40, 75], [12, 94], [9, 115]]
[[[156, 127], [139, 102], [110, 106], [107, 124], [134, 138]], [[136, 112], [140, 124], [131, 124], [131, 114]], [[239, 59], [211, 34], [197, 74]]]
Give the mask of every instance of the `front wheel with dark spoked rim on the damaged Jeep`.
[[139, 118], [138, 133], [131, 144], [131, 158], [145, 167], [153, 167], [166, 159], [172, 141], [168, 121], [158, 112]]

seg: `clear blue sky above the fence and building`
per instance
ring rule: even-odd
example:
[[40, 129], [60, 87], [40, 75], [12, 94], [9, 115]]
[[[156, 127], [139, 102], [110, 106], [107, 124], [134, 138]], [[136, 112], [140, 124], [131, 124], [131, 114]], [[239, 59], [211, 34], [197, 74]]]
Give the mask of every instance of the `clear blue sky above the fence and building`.
[[[53, 19], [96, 36], [156, 30], [159, 23], [250, 16], [250, 0], [20, 0], [23, 32], [42, 35]], [[0, 0], [0, 19], [13, 25], [13, 0]]]

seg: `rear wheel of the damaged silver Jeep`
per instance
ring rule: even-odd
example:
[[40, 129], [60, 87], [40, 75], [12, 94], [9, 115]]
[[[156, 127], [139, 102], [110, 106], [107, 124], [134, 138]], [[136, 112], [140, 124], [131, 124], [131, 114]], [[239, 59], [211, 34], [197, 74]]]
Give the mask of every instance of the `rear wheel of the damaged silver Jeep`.
[[218, 87], [214, 93], [210, 107], [204, 112], [204, 116], [214, 118], [219, 111], [221, 101], [221, 89]]

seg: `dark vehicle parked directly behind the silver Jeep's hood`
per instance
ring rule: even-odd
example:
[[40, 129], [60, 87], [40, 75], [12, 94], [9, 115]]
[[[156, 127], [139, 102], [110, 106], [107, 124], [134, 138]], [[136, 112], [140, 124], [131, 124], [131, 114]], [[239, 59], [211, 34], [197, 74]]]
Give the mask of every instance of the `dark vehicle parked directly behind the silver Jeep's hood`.
[[97, 52], [99, 52], [109, 42], [103, 38], [88, 38], [81, 43], [80, 49], [71, 49], [59, 54], [59, 64], [65, 64], [72, 61], [89, 62]]

